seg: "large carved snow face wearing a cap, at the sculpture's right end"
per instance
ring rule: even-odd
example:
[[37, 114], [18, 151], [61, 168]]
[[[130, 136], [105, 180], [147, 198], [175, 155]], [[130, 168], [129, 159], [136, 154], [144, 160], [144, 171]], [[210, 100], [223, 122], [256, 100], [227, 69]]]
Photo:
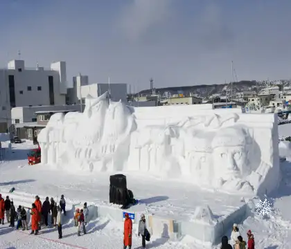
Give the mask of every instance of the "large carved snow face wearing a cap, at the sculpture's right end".
[[215, 178], [245, 178], [251, 173], [248, 152], [251, 138], [242, 127], [229, 127], [213, 138]]

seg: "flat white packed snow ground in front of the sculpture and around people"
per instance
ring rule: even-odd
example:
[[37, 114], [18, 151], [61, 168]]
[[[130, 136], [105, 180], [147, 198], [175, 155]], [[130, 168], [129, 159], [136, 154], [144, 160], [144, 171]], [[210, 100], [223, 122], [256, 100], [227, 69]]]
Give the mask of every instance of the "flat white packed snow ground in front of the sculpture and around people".
[[[288, 126], [288, 127], [287, 127]], [[283, 131], [282, 131], [283, 130]], [[290, 133], [288, 133], [290, 131]], [[282, 134], [284, 133], [284, 134]], [[279, 126], [279, 136], [291, 135], [291, 124]], [[1, 137], [3, 139], [3, 136]], [[8, 142], [2, 142], [6, 147]], [[42, 199], [45, 196], [60, 196], [64, 194], [69, 203], [87, 201], [90, 203], [104, 203], [109, 199], [109, 174], [98, 177], [90, 174], [76, 174], [74, 172], [58, 172], [47, 169], [42, 165], [27, 165], [27, 149], [33, 147], [30, 142], [22, 145], [13, 145], [12, 151], [6, 154], [6, 160], [0, 162], [0, 192], [8, 192], [15, 187], [15, 205], [17, 200], [24, 201], [33, 199], [39, 194]], [[269, 201], [273, 204], [269, 219], [261, 219], [254, 215], [239, 224], [240, 232], [246, 239], [247, 230], [254, 232], [256, 249], [279, 249], [291, 248], [291, 158], [281, 163], [283, 181], [279, 191], [271, 196]], [[144, 204], [136, 208], [148, 209], [149, 212], [157, 212], [170, 215], [181, 215], [185, 219], [191, 217], [195, 205], [204, 199], [205, 192], [199, 192], [197, 188], [189, 188], [189, 185], [173, 181], [157, 181], [144, 175], [127, 175], [128, 188], [133, 190], [137, 199], [143, 199]], [[183, 197], [182, 198], [182, 195]], [[272, 198], [273, 197], [273, 198]], [[184, 199], [184, 203], [181, 200]], [[197, 201], [199, 200], [199, 201]], [[238, 205], [238, 199], [227, 194], [220, 194], [210, 204], [215, 215], [222, 215], [225, 203], [233, 203], [231, 208]], [[169, 208], [175, 208], [170, 210]], [[134, 236], [132, 248], [140, 248], [141, 239], [137, 237], [137, 227], [134, 225]], [[226, 234], [230, 237], [230, 232]], [[72, 221], [63, 226], [63, 239], [58, 239], [58, 231], [54, 228], [41, 230], [39, 236], [29, 235], [28, 231], [15, 231], [8, 228], [8, 224], [0, 226], [0, 248], [121, 248], [123, 243], [123, 223], [112, 221], [108, 218], [99, 218], [91, 221], [88, 225], [88, 234], [77, 237], [76, 228]], [[211, 248], [219, 248], [213, 246]], [[209, 248], [202, 246], [200, 241], [191, 237], [184, 237], [179, 241], [169, 241], [164, 238], [153, 237], [148, 248]]]

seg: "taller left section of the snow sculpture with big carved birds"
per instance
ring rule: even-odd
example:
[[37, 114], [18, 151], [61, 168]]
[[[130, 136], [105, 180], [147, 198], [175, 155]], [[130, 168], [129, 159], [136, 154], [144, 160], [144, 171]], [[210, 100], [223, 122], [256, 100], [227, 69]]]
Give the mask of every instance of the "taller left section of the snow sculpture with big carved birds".
[[[103, 171], [123, 168], [130, 145], [130, 133], [135, 129], [132, 111], [122, 102], [110, 102], [108, 94], [99, 98], [87, 96], [84, 113], [56, 113], [39, 133], [43, 163], [59, 167], [76, 167]], [[55, 122], [62, 116], [60, 122]], [[48, 134], [58, 134], [55, 140]], [[58, 142], [56, 146], [52, 142]], [[49, 151], [51, 153], [46, 156]], [[124, 152], [123, 152], [124, 151]], [[57, 156], [55, 156], [57, 155]]]

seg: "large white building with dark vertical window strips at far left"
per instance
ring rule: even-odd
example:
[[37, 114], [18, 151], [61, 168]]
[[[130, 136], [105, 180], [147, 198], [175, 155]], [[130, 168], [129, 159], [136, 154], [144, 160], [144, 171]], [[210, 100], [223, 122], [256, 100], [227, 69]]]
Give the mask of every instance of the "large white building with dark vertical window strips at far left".
[[11, 124], [11, 108], [66, 104], [65, 62], [51, 68], [26, 68], [24, 60], [13, 60], [0, 68], [0, 132]]

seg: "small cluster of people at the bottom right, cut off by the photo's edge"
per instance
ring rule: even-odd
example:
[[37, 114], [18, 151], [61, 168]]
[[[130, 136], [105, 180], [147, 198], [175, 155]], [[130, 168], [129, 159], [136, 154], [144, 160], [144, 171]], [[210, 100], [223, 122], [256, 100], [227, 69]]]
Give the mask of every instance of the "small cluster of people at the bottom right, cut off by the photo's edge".
[[[232, 244], [232, 246], [231, 246]], [[251, 230], [247, 231], [247, 243], [243, 240], [243, 237], [240, 235], [238, 225], [233, 224], [231, 231], [231, 244], [229, 244], [229, 239], [227, 236], [223, 236], [221, 239], [221, 249], [254, 249], [254, 234]]]

